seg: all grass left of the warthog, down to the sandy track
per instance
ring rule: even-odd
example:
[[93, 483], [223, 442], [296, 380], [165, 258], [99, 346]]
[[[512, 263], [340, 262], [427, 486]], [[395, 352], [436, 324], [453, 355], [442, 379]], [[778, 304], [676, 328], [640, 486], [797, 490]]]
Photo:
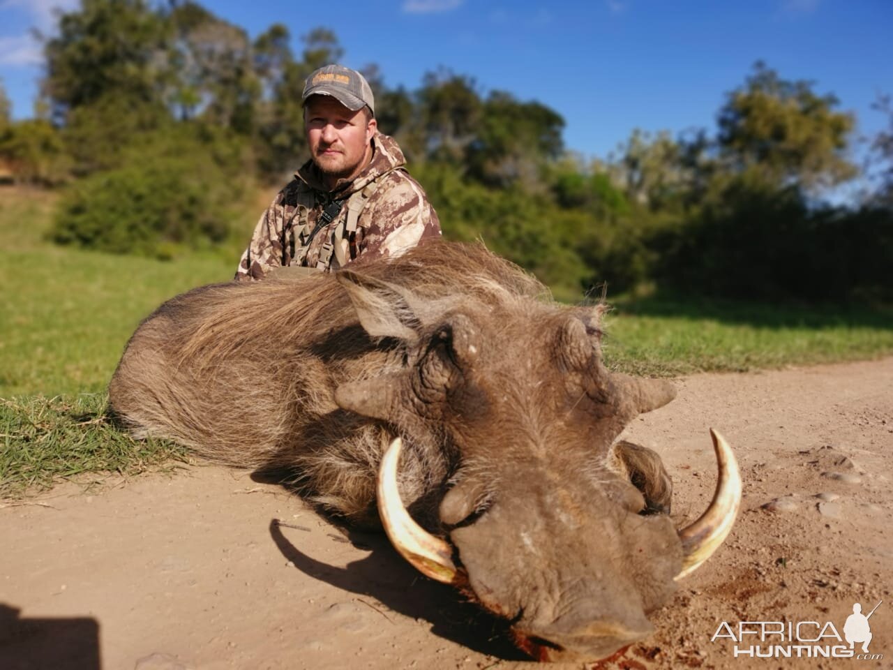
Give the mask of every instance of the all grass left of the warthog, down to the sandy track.
[[183, 448], [118, 431], [105, 386], [141, 319], [236, 267], [233, 258], [163, 262], [55, 247], [46, 242], [55, 199], [0, 188], [0, 498], [182, 460]]

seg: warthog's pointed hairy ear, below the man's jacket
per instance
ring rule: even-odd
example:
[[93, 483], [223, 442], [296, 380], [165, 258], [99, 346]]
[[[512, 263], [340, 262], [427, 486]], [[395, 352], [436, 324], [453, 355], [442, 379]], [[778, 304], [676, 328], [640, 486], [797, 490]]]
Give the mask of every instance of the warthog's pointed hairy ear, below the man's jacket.
[[419, 300], [412, 291], [352, 270], [340, 270], [335, 278], [350, 296], [363, 329], [373, 338], [418, 339]]

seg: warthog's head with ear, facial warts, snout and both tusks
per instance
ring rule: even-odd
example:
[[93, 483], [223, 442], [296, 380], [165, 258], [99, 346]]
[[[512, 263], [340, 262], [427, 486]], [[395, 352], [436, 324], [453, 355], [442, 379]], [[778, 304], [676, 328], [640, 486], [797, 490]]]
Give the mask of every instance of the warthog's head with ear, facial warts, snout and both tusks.
[[540, 660], [597, 659], [647, 636], [647, 613], [730, 531], [740, 480], [722, 438], [714, 502], [678, 531], [659, 457], [615, 444], [674, 390], [605, 369], [600, 308], [439, 302], [350, 271], [338, 281], [364, 330], [403, 356], [338, 386], [338, 406], [455, 464], [430, 534], [401, 503], [401, 440], [391, 444], [378, 506], [396, 549], [508, 619]]

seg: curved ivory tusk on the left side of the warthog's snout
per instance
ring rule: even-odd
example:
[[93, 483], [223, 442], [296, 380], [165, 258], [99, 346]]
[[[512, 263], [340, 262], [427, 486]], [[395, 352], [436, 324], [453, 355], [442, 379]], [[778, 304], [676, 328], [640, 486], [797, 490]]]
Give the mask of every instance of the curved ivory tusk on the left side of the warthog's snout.
[[415, 523], [400, 499], [396, 486], [396, 468], [402, 447], [403, 440], [400, 438], [392, 441], [379, 466], [376, 490], [381, 523], [394, 548], [421, 574], [438, 582], [455, 583], [459, 574], [453, 563], [452, 547]]

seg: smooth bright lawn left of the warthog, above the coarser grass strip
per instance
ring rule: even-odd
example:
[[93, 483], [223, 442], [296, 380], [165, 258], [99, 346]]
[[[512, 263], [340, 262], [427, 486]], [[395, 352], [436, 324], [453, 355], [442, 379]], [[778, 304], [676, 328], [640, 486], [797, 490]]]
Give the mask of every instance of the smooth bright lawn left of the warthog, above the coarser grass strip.
[[0, 188], [0, 246], [7, 250], [0, 398], [101, 392], [141, 319], [186, 289], [230, 280], [238, 262], [56, 247], [44, 241], [52, 205], [41, 191]]

